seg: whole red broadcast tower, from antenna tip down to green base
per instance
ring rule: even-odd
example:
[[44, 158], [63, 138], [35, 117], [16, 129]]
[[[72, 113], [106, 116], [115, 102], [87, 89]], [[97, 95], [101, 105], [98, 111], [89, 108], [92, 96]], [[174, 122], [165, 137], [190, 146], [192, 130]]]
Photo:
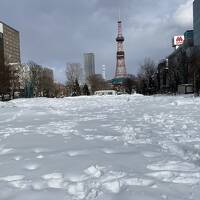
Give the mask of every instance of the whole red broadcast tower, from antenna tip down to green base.
[[127, 82], [127, 72], [126, 72], [126, 64], [125, 64], [125, 52], [124, 52], [124, 37], [122, 35], [122, 21], [119, 15], [118, 20], [118, 35], [116, 38], [117, 42], [117, 62], [116, 62], [116, 71], [115, 78], [112, 80], [112, 84], [114, 89], [124, 91], [126, 88]]

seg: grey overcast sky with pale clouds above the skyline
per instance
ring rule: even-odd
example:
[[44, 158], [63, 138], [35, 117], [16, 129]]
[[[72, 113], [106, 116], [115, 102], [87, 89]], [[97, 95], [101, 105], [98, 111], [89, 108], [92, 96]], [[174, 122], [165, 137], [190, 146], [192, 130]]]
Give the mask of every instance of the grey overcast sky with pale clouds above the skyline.
[[193, 0], [0, 0], [0, 20], [21, 34], [23, 62], [55, 70], [64, 82], [67, 62], [83, 64], [94, 52], [96, 71], [114, 76], [118, 10], [121, 8], [126, 65], [137, 73], [145, 57], [158, 62], [173, 49], [173, 35], [192, 28]]

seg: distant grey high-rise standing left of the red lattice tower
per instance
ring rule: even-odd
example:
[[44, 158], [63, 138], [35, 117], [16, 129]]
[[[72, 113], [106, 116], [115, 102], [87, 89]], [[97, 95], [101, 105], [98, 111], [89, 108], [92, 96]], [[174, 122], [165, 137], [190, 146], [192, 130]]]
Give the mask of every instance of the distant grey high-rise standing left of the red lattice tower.
[[95, 55], [94, 53], [84, 54], [85, 79], [95, 74]]

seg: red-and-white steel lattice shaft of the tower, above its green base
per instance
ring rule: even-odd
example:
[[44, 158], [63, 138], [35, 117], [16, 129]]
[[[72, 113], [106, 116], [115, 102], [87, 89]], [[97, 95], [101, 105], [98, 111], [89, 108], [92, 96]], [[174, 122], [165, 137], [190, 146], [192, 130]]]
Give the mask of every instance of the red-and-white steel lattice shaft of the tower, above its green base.
[[127, 77], [126, 64], [125, 64], [125, 53], [124, 53], [124, 37], [122, 35], [122, 21], [118, 21], [118, 35], [116, 38], [117, 41], [117, 65], [115, 78], [125, 78]]

